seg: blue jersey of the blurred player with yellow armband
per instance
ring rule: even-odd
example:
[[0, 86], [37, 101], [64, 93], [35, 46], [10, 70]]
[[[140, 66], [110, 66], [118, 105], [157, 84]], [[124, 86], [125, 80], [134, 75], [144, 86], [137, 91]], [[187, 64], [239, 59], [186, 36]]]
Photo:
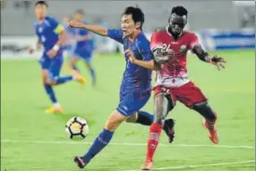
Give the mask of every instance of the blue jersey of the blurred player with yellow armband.
[[[59, 33], [61, 33], [64, 28], [57, 20], [46, 17], [42, 23], [35, 22], [34, 29], [39, 42], [44, 46], [43, 57], [48, 57], [47, 52], [58, 42]], [[60, 49], [57, 56], [62, 55], [62, 53], [63, 50]]]

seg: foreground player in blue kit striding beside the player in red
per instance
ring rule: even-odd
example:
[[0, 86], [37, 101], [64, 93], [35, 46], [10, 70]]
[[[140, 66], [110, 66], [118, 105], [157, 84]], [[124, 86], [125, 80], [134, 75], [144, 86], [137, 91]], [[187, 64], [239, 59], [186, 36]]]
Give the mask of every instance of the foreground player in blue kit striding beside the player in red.
[[[94, 140], [90, 150], [81, 157], [75, 157], [78, 167], [83, 168], [92, 158], [102, 151], [113, 137], [114, 131], [123, 121], [151, 125], [154, 119], [152, 114], [141, 112], [141, 108], [148, 102], [151, 91], [151, 66], [154, 60], [149, 47], [149, 40], [142, 32], [144, 14], [138, 7], [125, 8], [121, 16], [121, 29], [112, 30], [101, 26], [83, 24], [72, 20], [70, 27], [83, 28], [99, 35], [108, 36], [123, 45], [126, 67], [123, 73], [120, 89], [120, 103], [116, 110], [110, 113], [107, 123]], [[141, 67], [141, 66], [143, 67]], [[159, 66], [157, 67], [159, 69]], [[167, 135], [173, 138], [173, 120], [164, 123]]]

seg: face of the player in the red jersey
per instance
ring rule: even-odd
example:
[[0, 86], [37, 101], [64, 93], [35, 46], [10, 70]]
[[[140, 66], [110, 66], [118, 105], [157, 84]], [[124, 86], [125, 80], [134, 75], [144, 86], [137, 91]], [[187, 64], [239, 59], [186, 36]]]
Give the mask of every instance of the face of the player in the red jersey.
[[176, 14], [172, 14], [171, 19], [169, 21], [169, 27], [171, 28], [172, 32], [175, 34], [180, 34], [185, 25], [187, 23], [186, 16], [178, 16]]

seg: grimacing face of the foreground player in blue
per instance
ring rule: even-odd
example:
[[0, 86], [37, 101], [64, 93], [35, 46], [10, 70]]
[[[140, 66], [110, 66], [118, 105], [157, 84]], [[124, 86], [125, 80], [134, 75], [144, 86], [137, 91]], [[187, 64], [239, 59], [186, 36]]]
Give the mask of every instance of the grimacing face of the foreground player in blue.
[[121, 29], [124, 36], [131, 36], [139, 28], [139, 23], [135, 24], [132, 15], [121, 16]]

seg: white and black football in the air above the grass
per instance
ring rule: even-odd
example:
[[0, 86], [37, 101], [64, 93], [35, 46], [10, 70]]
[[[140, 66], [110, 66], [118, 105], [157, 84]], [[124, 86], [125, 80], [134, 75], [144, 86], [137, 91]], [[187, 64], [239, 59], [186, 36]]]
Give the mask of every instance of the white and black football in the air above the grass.
[[65, 133], [74, 140], [86, 138], [89, 134], [89, 125], [86, 119], [74, 116], [70, 118], [65, 125]]

